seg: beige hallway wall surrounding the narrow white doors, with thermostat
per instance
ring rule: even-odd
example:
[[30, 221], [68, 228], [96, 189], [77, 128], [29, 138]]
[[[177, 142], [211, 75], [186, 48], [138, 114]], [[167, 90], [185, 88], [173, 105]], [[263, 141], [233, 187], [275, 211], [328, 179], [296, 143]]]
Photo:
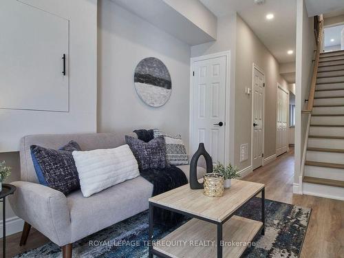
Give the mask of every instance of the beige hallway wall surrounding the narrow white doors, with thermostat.
[[245, 87], [252, 87], [252, 63], [263, 70], [266, 78], [265, 87], [265, 124], [264, 124], [264, 158], [276, 154], [276, 114], [277, 83], [288, 89], [286, 80], [279, 74], [279, 63], [255, 33], [237, 17], [236, 29], [237, 60], [235, 85], [235, 165], [239, 169], [251, 166], [250, 147], [248, 160], [240, 162], [240, 145], [251, 146], [252, 133], [252, 94], [245, 94]]

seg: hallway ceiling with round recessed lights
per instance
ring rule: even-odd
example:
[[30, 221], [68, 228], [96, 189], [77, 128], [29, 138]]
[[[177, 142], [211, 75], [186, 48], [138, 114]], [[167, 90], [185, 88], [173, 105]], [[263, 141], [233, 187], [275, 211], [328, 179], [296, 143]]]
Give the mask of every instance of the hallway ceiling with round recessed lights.
[[[261, 6], [253, 0], [200, 1], [217, 17], [237, 12], [279, 63], [295, 61], [297, 0], [266, 0]], [[268, 21], [268, 13], [275, 18]], [[288, 55], [288, 50], [294, 54]]]

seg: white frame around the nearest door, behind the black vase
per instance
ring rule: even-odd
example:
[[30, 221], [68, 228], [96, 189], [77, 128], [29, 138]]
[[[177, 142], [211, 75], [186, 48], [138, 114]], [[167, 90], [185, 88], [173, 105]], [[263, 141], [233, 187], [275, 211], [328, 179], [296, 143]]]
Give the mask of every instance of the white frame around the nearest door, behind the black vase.
[[[224, 115], [224, 163], [228, 164], [230, 162], [230, 144], [232, 141], [230, 140], [230, 128], [234, 128], [231, 126], [234, 123], [234, 119], [230, 117], [230, 94], [234, 94], [230, 87], [230, 50], [224, 52], [217, 52], [214, 54], [206, 54], [203, 56], [195, 56], [190, 58], [190, 103], [189, 103], [189, 155], [193, 155], [191, 153], [191, 147], [193, 146], [193, 63], [197, 61], [204, 61], [207, 59], [217, 58], [217, 57], [226, 57], [226, 99], [225, 99], [225, 115]], [[234, 162], [234, 160], [232, 160]]]

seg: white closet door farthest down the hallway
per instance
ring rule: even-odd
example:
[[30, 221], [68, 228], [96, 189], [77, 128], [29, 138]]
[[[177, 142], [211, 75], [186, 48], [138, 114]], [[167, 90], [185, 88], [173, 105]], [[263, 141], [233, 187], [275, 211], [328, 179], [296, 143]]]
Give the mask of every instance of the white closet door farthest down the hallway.
[[288, 150], [288, 99], [288, 92], [278, 86], [276, 155], [281, 155]]

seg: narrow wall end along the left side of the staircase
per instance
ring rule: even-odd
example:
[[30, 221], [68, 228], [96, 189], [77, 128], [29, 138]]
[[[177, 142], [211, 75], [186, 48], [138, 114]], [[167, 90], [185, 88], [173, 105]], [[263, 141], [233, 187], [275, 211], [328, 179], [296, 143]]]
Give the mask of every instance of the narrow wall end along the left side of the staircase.
[[314, 52], [313, 19], [308, 18], [304, 0], [297, 0], [297, 71], [296, 71], [296, 125], [295, 125], [295, 186], [299, 184], [301, 170], [301, 158], [305, 133], [307, 129], [308, 116], [301, 115], [305, 107], [305, 99], [310, 93], [310, 79], [312, 76], [312, 58]]

